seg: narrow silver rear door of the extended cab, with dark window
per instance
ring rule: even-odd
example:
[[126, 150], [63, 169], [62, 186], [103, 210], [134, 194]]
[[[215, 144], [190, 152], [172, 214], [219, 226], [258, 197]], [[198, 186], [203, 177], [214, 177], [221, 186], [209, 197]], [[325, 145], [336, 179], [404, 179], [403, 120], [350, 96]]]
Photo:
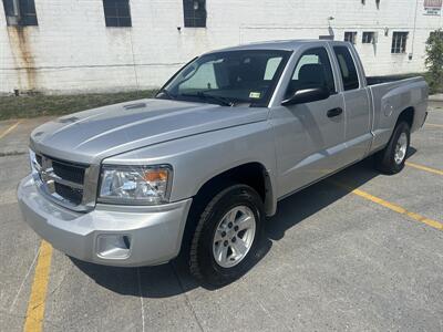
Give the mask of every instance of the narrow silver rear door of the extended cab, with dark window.
[[344, 98], [346, 145], [343, 156], [347, 164], [365, 156], [372, 142], [371, 102], [365, 87], [364, 74], [358, 71], [357, 53], [350, 46], [332, 44], [341, 79], [341, 94]]

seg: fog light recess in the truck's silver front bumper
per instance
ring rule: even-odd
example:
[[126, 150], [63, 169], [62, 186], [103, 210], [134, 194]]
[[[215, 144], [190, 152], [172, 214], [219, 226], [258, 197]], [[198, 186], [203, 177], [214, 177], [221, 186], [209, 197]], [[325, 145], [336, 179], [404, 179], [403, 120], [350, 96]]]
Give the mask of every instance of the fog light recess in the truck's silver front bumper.
[[130, 257], [131, 238], [125, 235], [101, 235], [97, 237], [97, 256], [105, 259]]

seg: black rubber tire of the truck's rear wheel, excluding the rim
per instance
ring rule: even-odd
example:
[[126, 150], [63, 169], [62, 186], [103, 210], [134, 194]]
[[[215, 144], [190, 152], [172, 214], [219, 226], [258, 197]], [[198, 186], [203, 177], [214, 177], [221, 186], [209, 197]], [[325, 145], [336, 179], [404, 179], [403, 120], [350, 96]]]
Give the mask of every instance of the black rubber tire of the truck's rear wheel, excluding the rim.
[[[406, 153], [401, 163], [395, 162], [395, 148], [402, 134], [406, 135]], [[396, 174], [404, 167], [408, 149], [411, 143], [411, 129], [406, 122], [401, 121], [396, 124], [388, 145], [374, 156], [375, 168], [384, 174]]]

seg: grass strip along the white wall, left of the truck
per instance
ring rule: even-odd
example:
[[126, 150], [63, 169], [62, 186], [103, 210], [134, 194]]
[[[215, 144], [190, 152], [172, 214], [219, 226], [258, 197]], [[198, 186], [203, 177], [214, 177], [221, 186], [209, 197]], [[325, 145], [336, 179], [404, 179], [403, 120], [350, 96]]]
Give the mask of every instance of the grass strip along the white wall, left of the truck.
[[73, 95], [0, 96], [0, 120], [63, 115], [89, 108], [154, 96], [155, 91]]

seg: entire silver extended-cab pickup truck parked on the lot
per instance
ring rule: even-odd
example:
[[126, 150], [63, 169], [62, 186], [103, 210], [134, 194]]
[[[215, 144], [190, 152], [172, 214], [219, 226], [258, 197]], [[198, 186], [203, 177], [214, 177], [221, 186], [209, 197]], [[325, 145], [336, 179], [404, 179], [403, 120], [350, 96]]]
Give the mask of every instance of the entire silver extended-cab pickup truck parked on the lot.
[[372, 154], [381, 172], [400, 172], [426, 103], [423, 79], [365, 77], [344, 42], [209, 52], [155, 98], [34, 129], [18, 198], [69, 256], [119, 267], [179, 256], [222, 286], [254, 263], [279, 199]]

